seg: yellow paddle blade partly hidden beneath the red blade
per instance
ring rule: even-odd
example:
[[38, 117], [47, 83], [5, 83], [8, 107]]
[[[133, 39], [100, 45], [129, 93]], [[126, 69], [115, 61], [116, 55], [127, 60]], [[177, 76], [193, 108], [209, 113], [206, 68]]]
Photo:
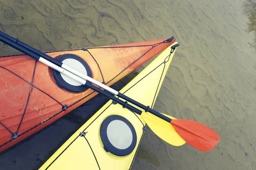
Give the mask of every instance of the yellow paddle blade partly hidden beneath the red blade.
[[[171, 119], [175, 119], [172, 116], [166, 114], [163, 115]], [[166, 122], [165, 120], [160, 119], [159, 117], [147, 112], [143, 112], [141, 116], [145, 120], [146, 124], [150, 127], [150, 129], [165, 142], [172, 144], [174, 146], [181, 146], [186, 143], [178, 135], [178, 133], [174, 130], [174, 128], [169, 122]]]

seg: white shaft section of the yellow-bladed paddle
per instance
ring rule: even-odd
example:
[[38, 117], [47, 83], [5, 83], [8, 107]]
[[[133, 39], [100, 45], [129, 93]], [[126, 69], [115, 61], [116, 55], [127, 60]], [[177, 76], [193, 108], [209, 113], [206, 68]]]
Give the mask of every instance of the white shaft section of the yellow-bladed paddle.
[[49, 66], [50, 68], [59, 71], [62, 74], [65, 74], [67, 77], [70, 77], [71, 79], [80, 82], [82, 85], [86, 83], [86, 80], [81, 79], [81, 77], [76, 76], [73, 73], [70, 73], [69, 71], [65, 70], [64, 68], [59, 67], [58, 65], [53, 64], [52, 62], [49, 62], [47, 59], [44, 59], [43, 57], [40, 57], [39, 60], [43, 64]]

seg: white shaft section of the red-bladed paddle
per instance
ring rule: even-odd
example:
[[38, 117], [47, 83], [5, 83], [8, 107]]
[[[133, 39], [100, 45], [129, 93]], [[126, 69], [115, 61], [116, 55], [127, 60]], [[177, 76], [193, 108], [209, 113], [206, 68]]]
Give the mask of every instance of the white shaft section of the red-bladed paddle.
[[95, 80], [95, 79], [93, 79], [93, 78], [91, 78], [91, 77], [89, 77], [89, 76], [87, 76], [85, 74], [82, 74], [81, 72], [76, 71], [75, 69], [73, 69], [73, 68], [71, 68], [71, 67], [69, 67], [69, 66], [67, 66], [65, 64], [62, 64], [61, 67], [65, 68], [67, 71], [70, 71], [71, 73], [76, 74], [77, 76], [79, 76], [79, 77], [81, 77], [81, 78], [83, 78], [83, 79], [85, 79], [85, 80], [87, 80], [87, 81], [89, 81], [89, 82], [91, 82], [91, 83], [93, 83], [93, 84], [95, 84], [95, 85], [105, 89], [106, 91], [109, 91], [110, 93], [112, 93], [114, 95], [118, 94], [118, 91], [114, 90], [113, 88], [110, 88], [110, 87], [102, 84], [101, 82], [98, 82], [97, 80]]

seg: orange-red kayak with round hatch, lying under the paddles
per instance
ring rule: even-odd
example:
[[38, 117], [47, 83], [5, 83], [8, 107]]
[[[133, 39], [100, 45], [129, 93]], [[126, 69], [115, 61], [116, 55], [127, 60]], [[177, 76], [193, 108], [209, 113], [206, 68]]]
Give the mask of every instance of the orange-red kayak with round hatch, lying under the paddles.
[[[175, 38], [46, 52], [110, 86]], [[75, 60], [75, 61], [74, 61]], [[0, 152], [64, 116], [97, 93], [27, 55], [0, 57]]]

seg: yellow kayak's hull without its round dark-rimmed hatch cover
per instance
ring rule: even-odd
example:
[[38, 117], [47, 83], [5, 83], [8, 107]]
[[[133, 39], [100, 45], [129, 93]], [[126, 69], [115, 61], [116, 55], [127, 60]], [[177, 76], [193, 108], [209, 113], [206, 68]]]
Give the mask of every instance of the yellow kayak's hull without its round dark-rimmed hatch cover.
[[[131, 80], [120, 93], [153, 108], [166, 71], [175, 53], [174, 51], [170, 54], [170, 51], [171, 46], [166, 48], [137, 77]], [[136, 131], [136, 145], [128, 155], [116, 156], [111, 151], [106, 150], [102, 142], [100, 127], [108, 117], [113, 115], [127, 119]], [[129, 170], [143, 137], [145, 127], [146, 122], [140, 115], [109, 101], [76, 131], [40, 170], [66, 170], [72, 168], [76, 170]], [[84, 136], [81, 135], [82, 133]], [[86, 164], [84, 160], [86, 160]]]

